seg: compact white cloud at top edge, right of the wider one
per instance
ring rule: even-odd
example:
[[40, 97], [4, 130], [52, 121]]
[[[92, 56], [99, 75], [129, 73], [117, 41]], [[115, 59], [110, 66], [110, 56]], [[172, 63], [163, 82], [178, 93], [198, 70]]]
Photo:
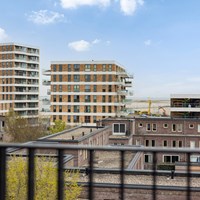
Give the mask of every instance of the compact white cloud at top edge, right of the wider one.
[[120, 0], [121, 11], [125, 15], [133, 15], [138, 6], [144, 4], [143, 0]]

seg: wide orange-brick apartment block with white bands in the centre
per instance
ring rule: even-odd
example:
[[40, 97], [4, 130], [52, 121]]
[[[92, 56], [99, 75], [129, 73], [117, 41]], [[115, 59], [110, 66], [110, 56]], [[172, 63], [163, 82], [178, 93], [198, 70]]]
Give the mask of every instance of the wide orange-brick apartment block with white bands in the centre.
[[115, 61], [51, 62], [51, 122], [94, 125], [125, 114], [127, 87], [132, 76]]

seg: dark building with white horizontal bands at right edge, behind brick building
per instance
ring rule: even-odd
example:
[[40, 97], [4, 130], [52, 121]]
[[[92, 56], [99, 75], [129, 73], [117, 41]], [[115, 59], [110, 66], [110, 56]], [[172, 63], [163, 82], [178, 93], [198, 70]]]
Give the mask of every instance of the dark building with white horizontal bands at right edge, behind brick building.
[[172, 94], [171, 117], [200, 118], [200, 94]]

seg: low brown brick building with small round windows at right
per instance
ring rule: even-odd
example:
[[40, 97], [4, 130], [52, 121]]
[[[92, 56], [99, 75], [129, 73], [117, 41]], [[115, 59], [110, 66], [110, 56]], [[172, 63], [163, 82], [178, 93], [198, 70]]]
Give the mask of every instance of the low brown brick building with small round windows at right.
[[[163, 148], [199, 148], [200, 120], [184, 118], [136, 118], [133, 145]], [[191, 155], [196, 162], [200, 155]], [[158, 163], [174, 164], [187, 161], [185, 154], [159, 153]], [[152, 154], [145, 154], [145, 166], [152, 164]]]

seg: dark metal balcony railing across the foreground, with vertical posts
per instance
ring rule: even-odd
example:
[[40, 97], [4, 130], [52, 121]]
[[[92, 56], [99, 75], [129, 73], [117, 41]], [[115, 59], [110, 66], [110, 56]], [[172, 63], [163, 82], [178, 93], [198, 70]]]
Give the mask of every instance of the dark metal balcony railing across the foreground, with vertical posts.
[[[28, 149], [28, 191], [27, 191], [27, 199], [28, 200], [33, 200], [35, 196], [35, 191], [34, 191], [34, 184], [35, 184], [35, 161], [34, 157], [36, 156], [36, 150], [38, 149], [49, 149], [49, 150], [57, 150], [57, 177], [58, 177], [58, 184], [57, 184], [57, 199], [62, 200], [64, 199], [64, 189], [65, 189], [65, 180], [64, 180], [64, 167], [63, 167], [63, 160], [64, 160], [64, 153], [66, 150], [87, 150], [89, 152], [89, 163], [87, 167], [87, 174], [88, 174], [88, 199], [89, 200], [94, 200], [95, 196], [95, 182], [94, 182], [94, 173], [100, 172], [109, 172], [109, 173], [118, 173], [120, 175], [120, 184], [119, 184], [119, 199], [125, 200], [125, 189], [126, 189], [126, 184], [125, 184], [125, 175], [127, 173], [133, 173], [133, 174], [142, 174], [142, 173], [147, 173], [145, 170], [126, 170], [125, 169], [125, 153], [126, 152], [142, 152], [142, 153], [149, 153], [151, 152], [153, 155], [153, 168], [152, 170], [148, 171], [148, 174], [152, 176], [153, 182], [152, 185], [148, 186], [148, 189], [151, 190], [151, 198], [153, 200], [158, 199], [157, 198], [157, 191], [162, 190], [161, 186], [157, 185], [157, 177], [161, 174], [156, 169], [157, 166], [157, 154], [163, 152], [163, 153], [184, 153], [187, 155], [187, 170], [185, 172], [185, 177], [187, 177], [186, 182], [187, 185], [186, 187], [181, 187], [180, 190], [186, 192], [186, 198], [187, 200], [192, 199], [191, 198], [191, 192], [200, 192], [200, 188], [196, 187], [195, 189], [191, 187], [191, 177], [195, 176], [193, 172], [191, 172], [190, 169], [190, 156], [192, 154], [199, 154], [200, 150], [199, 149], [168, 149], [168, 148], [145, 148], [141, 146], [76, 146], [76, 145], [62, 145], [62, 144], [0, 144], [0, 199], [5, 200], [6, 199], [6, 171], [7, 171], [7, 156], [11, 153], [14, 152], [14, 150], [17, 149]], [[95, 159], [95, 152], [96, 151], [116, 151], [119, 152], [119, 163], [120, 167], [118, 169], [112, 169], [112, 168], [103, 168], [103, 169], [96, 169], [94, 167], [94, 159]], [[162, 172], [165, 175], [168, 174], [170, 175], [171, 172]], [[181, 174], [181, 173], [177, 173]], [[200, 174], [198, 174], [200, 176]], [[140, 188], [144, 187], [145, 185], [141, 186]], [[136, 187], [137, 189], [139, 187]], [[173, 187], [169, 187], [169, 190], [173, 190]], [[109, 194], [108, 194], [109, 195]]]

